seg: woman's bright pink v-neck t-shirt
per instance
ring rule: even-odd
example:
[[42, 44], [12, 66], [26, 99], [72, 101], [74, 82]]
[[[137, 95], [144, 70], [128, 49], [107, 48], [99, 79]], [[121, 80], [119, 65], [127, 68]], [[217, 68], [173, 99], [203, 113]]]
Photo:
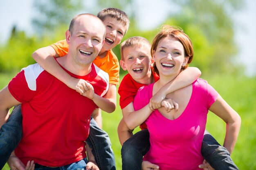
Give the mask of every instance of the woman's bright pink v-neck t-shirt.
[[[148, 104], [153, 85], [141, 87], [134, 98], [134, 109]], [[198, 78], [184, 112], [169, 120], [155, 110], [145, 121], [150, 133], [150, 150], [144, 160], [155, 163], [160, 170], [200, 170], [203, 161], [201, 145], [209, 107], [216, 101], [216, 92], [207, 81]]]

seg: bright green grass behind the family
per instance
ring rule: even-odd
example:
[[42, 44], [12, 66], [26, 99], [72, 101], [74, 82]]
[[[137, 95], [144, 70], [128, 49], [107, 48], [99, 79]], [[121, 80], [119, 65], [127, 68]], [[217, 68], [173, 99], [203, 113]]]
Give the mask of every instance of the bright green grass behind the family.
[[[15, 74], [0, 74], [0, 87], [4, 87]], [[236, 147], [231, 155], [236, 165], [241, 170], [256, 169], [256, 78], [245, 76], [219, 75], [214, 77], [203, 77], [212, 85], [231, 107], [233, 107], [242, 118], [242, 125]], [[118, 96], [119, 101], [119, 96]], [[122, 113], [119, 105], [113, 113], [103, 113], [103, 129], [109, 134], [112, 149], [115, 153], [117, 170], [121, 170], [121, 145], [117, 135], [117, 126], [121, 120]], [[136, 129], [135, 131], [138, 131]], [[207, 130], [223, 144], [225, 137], [225, 123], [209, 112], [207, 119]], [[9, 167], [6, 165], [3, 170]]]

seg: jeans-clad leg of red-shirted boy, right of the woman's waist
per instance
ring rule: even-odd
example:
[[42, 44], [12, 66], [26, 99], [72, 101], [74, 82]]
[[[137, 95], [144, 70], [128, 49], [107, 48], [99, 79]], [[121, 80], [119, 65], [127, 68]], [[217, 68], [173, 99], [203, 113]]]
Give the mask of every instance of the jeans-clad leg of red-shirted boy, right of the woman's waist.
[[215, 170], [238, 170], [229, 151], [221, 146], [207, 131], [204, 132], [201, 153]]

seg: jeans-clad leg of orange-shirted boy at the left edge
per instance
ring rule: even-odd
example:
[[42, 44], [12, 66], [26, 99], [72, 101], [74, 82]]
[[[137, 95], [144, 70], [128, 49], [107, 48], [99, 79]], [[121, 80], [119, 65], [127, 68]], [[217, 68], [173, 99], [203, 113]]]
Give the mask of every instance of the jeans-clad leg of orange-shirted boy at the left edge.
[[6, 124], [0, 129], [0, 169], [22, 138], [21, 105], [15, 106]]

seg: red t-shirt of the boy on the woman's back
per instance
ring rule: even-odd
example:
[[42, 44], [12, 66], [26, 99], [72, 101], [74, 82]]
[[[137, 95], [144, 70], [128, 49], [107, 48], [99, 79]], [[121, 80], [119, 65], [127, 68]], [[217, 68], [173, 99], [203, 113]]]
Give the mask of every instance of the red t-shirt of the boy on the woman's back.
[[[152, 72], [152, 74], [155, 81], [159, 80], [159, 76], [155, 72]], [[130, 74], [124, 76], [118, 88], [118, 94], [120, 95], [119, 105], [121, 109], [124, 109], [130, 102], [133, 102], [138, 89], [142, 86], [146, 86], [146, 84], [137, 83]], [[141, 130], [147, 129], [145, 123], [141, 124], [139, 127]]]

